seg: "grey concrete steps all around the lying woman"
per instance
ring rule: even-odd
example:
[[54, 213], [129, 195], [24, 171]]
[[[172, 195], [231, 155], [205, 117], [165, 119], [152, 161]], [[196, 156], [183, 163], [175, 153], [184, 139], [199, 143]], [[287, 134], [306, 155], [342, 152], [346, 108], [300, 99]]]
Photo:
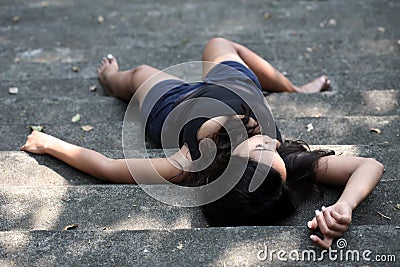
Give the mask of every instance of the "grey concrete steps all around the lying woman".
[[[215, 36], [249, 46], [295, 84], [329, 75], [329, 92], [267, 96], [285, 138], [385, 164], [341, 250], [371, 250], [373, 260], [289, 264], [396, 266], [375, 256], [400, 260], [399, 13], [395, 0], [1, 0], [0, 266], [281, 266], [287, 262], [257, 253], [265, 245], [270, 252], [320, 252], [305, 223], [341, 188], [324, 186], [322, 198], [311, 196], [278, 226], [209, 228], [198, 208], [171, 207], [138, 186], [106, 184], [49, 156], [17, 151], [27, 126], [44, 125], [49, 134], [122, 158], [127, 104], [105, 97], [99, 60], [113, 53], [121, 69], [163, 69], [200, 60]], [[9, 87], [19, 93], [10, 95]], [[72, 123], [77, 113], [81, 121]], [[94, 129], [84, 132], [80, 126], [88, 124]], [[132, 130], [139, 129], [137, 121]]]

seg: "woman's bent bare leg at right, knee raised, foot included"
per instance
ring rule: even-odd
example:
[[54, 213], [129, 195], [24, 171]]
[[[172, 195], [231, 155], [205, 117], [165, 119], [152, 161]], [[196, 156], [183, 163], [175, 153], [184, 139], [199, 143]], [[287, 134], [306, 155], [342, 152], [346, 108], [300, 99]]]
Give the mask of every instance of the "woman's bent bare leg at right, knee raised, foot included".
[[[263, 89], [267, 91], [313, 93], [326, 90], [330, 85], [329, 79], [321, 76], [309, 84], [297, 87], [253, 51], [223, 38], [214, 38], [207, 43], [203, 52], [203, 60], [217, 63], [224, 60], [235, 60], [245, 63], [256, 74]], [[206, 71], [208, 70], [206, 69]]]

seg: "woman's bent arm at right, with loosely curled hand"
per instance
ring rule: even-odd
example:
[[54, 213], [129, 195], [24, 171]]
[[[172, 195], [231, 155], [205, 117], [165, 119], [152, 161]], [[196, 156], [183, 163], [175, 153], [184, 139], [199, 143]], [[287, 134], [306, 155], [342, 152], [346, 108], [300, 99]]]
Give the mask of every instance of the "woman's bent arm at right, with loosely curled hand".
[[354, 156], [327, 156], [320, 158], [315, 170], [318, 182], [345, 185], [338, 201], [316, 211], [308, 227], [319, 227], [324, 234], [310, 238], [320, 247], [329, 248], [334, 238], [346, 232], [351, 223], [352, 211], [372, 192], [382, 177], [384, 167], [371, 158]]

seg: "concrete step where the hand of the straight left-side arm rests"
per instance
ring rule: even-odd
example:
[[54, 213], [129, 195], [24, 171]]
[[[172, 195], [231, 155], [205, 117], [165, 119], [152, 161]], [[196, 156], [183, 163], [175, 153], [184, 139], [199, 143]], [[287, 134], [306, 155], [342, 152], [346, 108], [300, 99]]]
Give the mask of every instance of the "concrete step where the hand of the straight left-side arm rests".
[[[276, 123], [285, 139], [303, 139], [313, 145], [393, 145], [398, 144], [400, 136], [398, 115], [278, 118]], [[63, 124], [44, 124], [44, 126], [46, 133], [79, 146], [103, 151], [122, 149], [122, 121], [91, 123], [94, 128], [90, 132], [80, 128], [85, 124], [84, 119], [82, 122], [72, 123], [68, 118]], [[0, 125], [0, 135], [5, 140], [0, 144], [0, 150], [18, 150], [30, 133], [28, 125], [31, 123]], [[311, 131], [308, 128], [310, 126], [313, 126]], [[131, 140], [130, 145], [138, 149], [143, 146], [143, 140], [140, 140], [142, 133], [140, 122], [132, 123], [131, 127], [131, 132], [136, 132], [137, 138]], [[378, 128], [381, 133], [371, 132], [371, 128]]]

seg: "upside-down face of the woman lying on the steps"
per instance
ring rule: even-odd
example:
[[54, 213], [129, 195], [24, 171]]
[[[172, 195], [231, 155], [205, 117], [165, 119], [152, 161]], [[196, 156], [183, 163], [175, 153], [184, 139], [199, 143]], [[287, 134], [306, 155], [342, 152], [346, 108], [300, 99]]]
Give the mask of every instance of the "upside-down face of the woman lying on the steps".
[[234, 150], [233, 155], [249, 158], [253, 161], [271, 166], [286, 181], [286, 167], [281, 156], [276, 152], [280, 142], [268, 135], [254, 135], [240, 143]]

